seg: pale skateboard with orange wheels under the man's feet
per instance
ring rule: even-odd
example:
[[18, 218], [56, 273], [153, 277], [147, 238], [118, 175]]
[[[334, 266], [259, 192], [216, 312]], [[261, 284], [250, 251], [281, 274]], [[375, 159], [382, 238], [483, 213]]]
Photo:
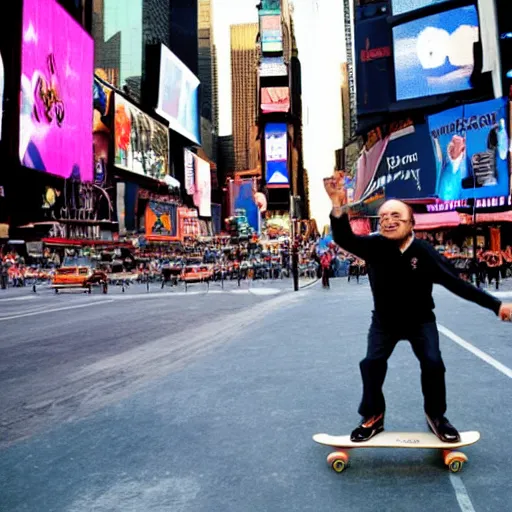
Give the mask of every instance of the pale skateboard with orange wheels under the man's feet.
[[430, 448], [442, 451], [443, 461], [452, 473], [462, 469], [467, 456], [457, 448], [475, 444], [480, 439], [480, 432], [460, 432], [460, 442], [445, 443], [430, 432], [380, 432], [369, 441], [354, 443], [350, 436], [330, 436], [315, 434], [313, 441], [335, 448], [336, 451], [327, 456], [327, 464], [341, 473], [350, 460], [349, 452], [354, 448]]

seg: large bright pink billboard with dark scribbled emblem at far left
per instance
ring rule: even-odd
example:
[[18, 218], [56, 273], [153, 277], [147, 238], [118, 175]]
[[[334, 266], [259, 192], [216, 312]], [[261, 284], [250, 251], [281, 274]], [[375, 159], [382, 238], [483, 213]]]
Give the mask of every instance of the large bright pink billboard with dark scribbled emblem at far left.
[[23, 0], [21, 163], [93, 179], [94, 43], [56, 0]]

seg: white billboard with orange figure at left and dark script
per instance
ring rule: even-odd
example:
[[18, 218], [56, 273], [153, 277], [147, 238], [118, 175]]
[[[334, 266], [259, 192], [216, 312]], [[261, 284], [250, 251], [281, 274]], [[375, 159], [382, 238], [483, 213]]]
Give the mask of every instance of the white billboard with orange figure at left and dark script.
[[115, 157], [120, 169], [163, 180], [169, 174], [167, 127], [115, 94]]

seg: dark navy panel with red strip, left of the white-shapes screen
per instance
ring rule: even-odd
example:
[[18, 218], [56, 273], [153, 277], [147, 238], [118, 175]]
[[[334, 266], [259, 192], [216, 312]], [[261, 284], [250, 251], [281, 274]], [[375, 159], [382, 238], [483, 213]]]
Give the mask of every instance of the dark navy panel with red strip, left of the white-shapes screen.
[[[355, 51], [359, 115], [389, 109], [392, 74], [391, 44], [391, 31], [386, 16], [357, 22]], [[375, 84], [379, 86], [376, 87]]]

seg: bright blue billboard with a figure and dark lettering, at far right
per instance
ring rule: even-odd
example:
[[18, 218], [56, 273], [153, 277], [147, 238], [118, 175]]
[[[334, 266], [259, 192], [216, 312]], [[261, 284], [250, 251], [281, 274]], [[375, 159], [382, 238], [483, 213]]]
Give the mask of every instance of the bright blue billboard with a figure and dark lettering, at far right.
[[428, 118], [440, 199], [454, 201], [509, 194], [506, 109], [506, 100], [499, 98]]

